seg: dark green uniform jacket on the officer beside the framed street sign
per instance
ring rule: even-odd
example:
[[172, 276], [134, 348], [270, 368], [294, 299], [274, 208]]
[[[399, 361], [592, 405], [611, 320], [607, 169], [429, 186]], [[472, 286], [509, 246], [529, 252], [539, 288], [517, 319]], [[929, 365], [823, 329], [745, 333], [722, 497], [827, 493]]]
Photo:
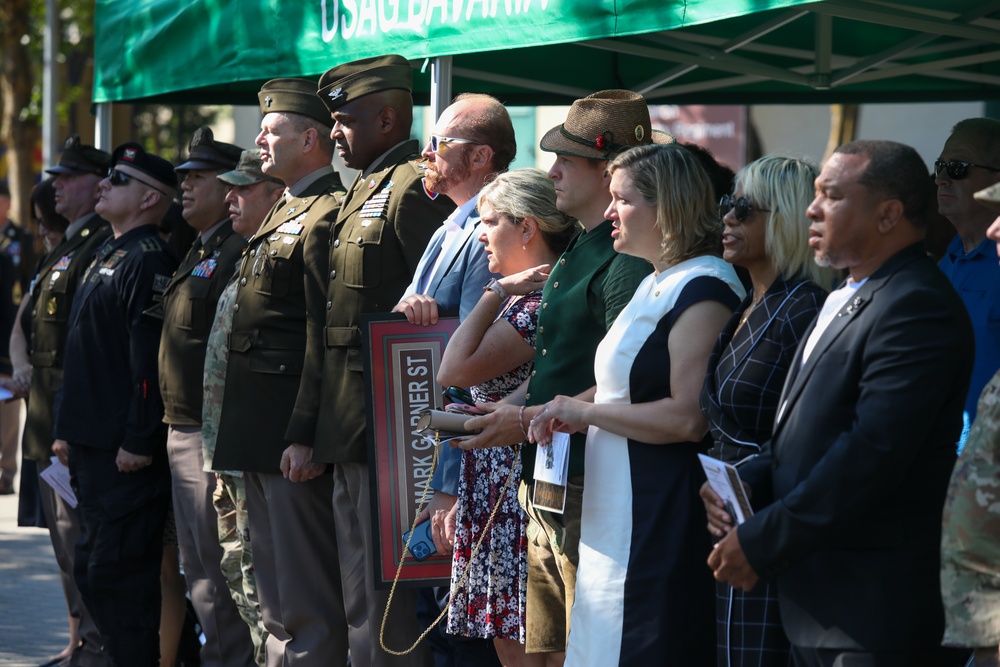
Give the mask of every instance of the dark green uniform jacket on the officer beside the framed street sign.
[[325, 304], [310, 311], [306, 368], [286, 434], [312, 445], [316, 461], [368, 461], [361, 315], [392, 310], [431, 235], [455, 210], [424, 188], [423, 167], [412, 161], [419, 148], [401, 144], [370, 176], [359, 175], [337, 216]]

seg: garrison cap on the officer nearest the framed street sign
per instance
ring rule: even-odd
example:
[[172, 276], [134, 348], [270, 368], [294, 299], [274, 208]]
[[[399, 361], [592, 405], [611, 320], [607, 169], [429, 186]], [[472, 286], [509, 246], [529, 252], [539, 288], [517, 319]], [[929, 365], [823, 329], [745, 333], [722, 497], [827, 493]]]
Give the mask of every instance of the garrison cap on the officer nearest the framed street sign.
[[319, 98], [333, 113], [348, 102], [383, 90], [413, 90], [413, 68], [403, 56], [365, 58], [329, 69], [320, 77]]

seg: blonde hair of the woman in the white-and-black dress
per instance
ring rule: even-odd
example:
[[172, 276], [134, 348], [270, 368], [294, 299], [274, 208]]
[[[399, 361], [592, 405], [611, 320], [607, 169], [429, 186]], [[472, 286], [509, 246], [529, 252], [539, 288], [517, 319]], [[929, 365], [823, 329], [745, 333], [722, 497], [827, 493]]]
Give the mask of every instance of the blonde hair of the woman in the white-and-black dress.
[[660, 259], [668, 265], [699, 255], [717, 255], [722, 236], [712, 181], [688, 150], [650, 144], [625, 151], [608, 167], [622, 170], [649, 206], [663, 235]]

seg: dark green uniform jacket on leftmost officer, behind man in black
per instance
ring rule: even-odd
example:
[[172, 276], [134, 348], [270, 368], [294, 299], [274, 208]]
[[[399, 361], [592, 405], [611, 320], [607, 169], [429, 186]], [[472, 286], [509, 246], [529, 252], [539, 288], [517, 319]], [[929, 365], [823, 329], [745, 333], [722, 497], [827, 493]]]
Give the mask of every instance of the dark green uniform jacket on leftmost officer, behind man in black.
[[63, 353], [69, 311], [80, 278], [108, 237], [111, 226], [91, 213], [72, 238], [46, 255], [31, 284], [31, 388], [24, 419], [24, 456], [48, 462], [52, 456], [54, 403], [63, 384]]

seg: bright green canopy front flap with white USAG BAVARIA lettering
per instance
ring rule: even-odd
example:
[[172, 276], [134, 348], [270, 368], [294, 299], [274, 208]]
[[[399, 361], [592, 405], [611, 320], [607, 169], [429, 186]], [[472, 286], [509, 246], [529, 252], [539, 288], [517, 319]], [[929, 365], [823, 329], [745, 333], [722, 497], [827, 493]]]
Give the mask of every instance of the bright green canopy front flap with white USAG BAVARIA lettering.
[[[334, 65], [387, 53], [419, 61], [489, 52], [500, 71], [507, 69], [502, 61], [510, 49], [670, 30], [798, 4], [801, 0], [98, 0], [94, 101], [193, 90], [198, 91], [193, 97], [213, 102], [254, 104], [267, 79], [318, 77]], [[418, 92], [427, 88], [423, 81], [416, 85]]]

